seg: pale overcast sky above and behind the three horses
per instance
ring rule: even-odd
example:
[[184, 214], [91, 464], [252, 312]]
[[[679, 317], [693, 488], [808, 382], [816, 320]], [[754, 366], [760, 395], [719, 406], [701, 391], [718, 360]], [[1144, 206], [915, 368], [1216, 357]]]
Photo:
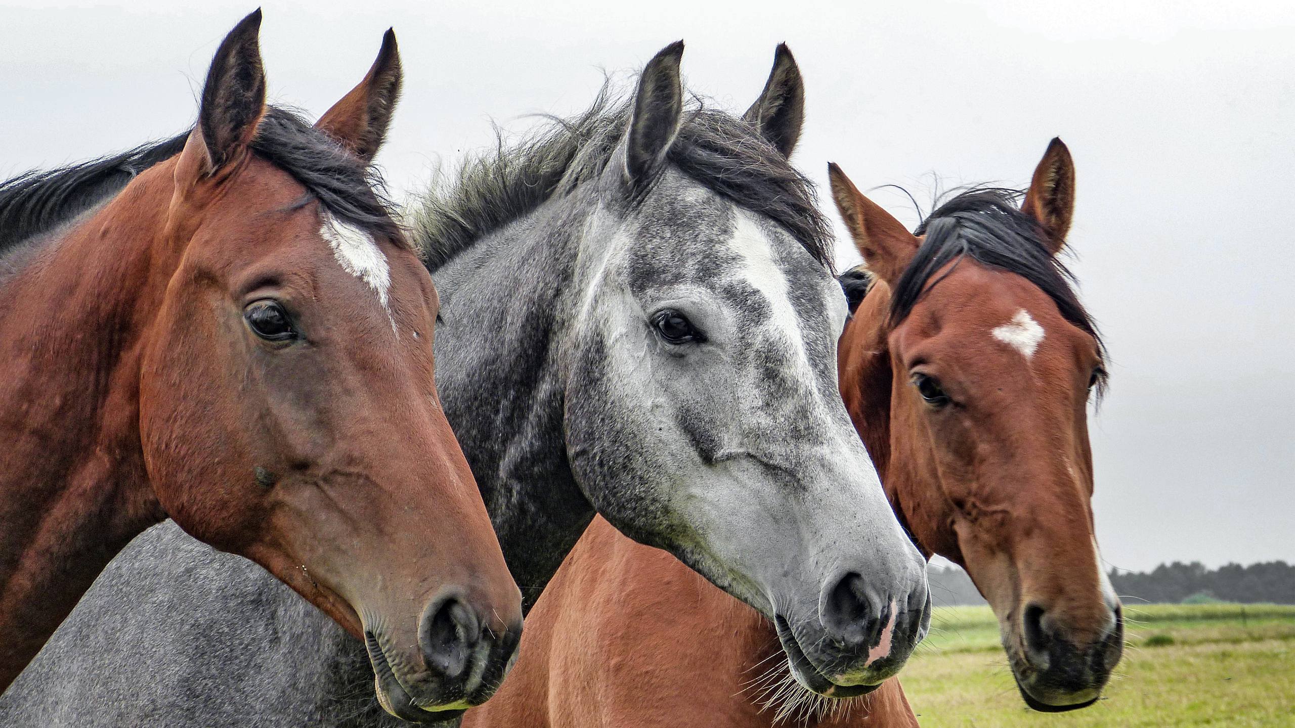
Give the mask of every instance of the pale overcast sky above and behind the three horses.
[[[0, 176], [190, 126], [211, 53], [254, 3], [0, 0]], [[524, 130], [526, 114], [576, 111], [602, 69], [636, 69], [680, 38], [689, 85], [738, 111], [787, 41], [808, 88], [795, 161], [822, 185], [835, 161], [860, 188], [897, 183], [922, 201], [932, 172], [945, 185], [1023, 187], [1061, 136], [1079, 170], [1074, 268], [1114, 359], [1092, 420], [1107, 562], [1295, 561], [1295, 4], [264, 10], [271, 96], [312, 115], [363, 76], [395, 26], [405, 92], [379, 162], [398, 193], [488, 145], [492, 120]], [[913, 222], [906, 199], [874, 198]], [[838, 258], [857, 259], [840, 245]]]

